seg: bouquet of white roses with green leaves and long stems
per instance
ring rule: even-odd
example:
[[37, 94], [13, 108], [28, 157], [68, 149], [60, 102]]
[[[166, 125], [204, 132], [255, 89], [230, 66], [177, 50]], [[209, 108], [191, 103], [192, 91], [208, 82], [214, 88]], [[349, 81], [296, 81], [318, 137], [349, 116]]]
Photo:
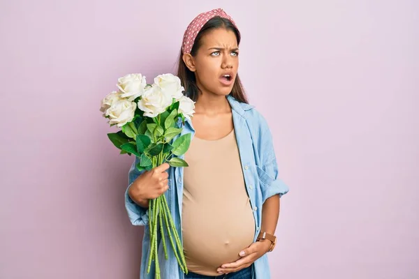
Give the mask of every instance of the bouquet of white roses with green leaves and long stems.
[[[117, 133], [108, 133], [109, 140], [120, 149], [121, 154], [137, 156], [139, 171], [150, 170], [163, 163], [172, 167], [187, 167], [180, 156], [189, 149], [191, 134], [173, 138], [182, 132], [179, 118], [184, 124], [195, 112], [193, 100], [184, 96], [184, 87], [179, 77], [172, 74], [158, 75], [154, 84], [147, 84], [140, 73], [120, 77], [117, 91], [112, 91], [101, 102], [103, 117], [110, 126], [121, 128]], [[149, 200], [149, 231], [151, 236], [147, 273], [152, 261], [156, 266], [155, 278], [160, 278], [157, 234], [160, 232], [166, 259], [168, 252], [165, 234], [169, 236], [179, 266], [188, 273], [182, 243], [173, 223], [166, 201], [161, 195]]]

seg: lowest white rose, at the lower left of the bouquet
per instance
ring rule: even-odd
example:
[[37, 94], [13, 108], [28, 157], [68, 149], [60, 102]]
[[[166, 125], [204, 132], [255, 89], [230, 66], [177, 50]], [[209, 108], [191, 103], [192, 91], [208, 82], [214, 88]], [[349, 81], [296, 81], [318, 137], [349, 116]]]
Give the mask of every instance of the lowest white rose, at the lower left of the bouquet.
[[110, 125], [117, 124], [118, 127], [124, 126], [131, 122], [135, 115], [137, 105], [126, 99], [117, 100], [112, 103], [110, 108], [106, 110], [106, 115], [109, 116]]

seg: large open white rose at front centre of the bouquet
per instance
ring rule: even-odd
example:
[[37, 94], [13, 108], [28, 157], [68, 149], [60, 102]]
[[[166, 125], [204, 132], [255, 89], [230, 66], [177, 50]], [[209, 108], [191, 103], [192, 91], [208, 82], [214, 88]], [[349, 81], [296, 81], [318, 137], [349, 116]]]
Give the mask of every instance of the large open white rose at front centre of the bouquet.
[[145, 112], [145, 116], [149, 117], [156, 117], [162, 112], [165, 112], [169, 105], [172, 105], [172, 97], [163, 94], [161, 88], [156, 84], [148, 87], [142, 93], [141, 99], [138, 100], [138, 107]]

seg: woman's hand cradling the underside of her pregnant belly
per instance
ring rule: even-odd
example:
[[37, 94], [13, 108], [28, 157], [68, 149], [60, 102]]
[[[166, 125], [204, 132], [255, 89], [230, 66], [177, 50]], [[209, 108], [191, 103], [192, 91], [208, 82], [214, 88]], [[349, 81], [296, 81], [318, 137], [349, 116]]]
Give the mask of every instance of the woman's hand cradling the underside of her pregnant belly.
[[231, 262], [230, 264], [223, 264], [216, 271], [222, 274], [245, 269], [251, 266], [251, 264], [253, 264], [253, 262], [255, 262], [256, 259], [265, 255], [267, 250], [269, 250], [270, 246], [271, 241], [268, 239], [253, 242], [248, 248], [242, 250], [242, 252], [239, 253], [241, 257], [240, 259], [237, 259], [236, 262]]

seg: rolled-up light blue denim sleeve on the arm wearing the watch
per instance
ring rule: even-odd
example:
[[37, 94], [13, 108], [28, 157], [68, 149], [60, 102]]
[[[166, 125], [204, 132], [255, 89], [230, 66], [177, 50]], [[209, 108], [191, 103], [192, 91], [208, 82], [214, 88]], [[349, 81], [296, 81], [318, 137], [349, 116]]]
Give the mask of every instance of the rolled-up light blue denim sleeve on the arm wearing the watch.
[[260, 190], [262, 191], [263, 202], [273, 195], [285, 195], [289, 188], [279, 176], [277, 156], [274, 151], [272, 133], [267, 126], [265, 119], [262, 119], [260, 135], [260, 166], [257, 166], [260, 179]]

